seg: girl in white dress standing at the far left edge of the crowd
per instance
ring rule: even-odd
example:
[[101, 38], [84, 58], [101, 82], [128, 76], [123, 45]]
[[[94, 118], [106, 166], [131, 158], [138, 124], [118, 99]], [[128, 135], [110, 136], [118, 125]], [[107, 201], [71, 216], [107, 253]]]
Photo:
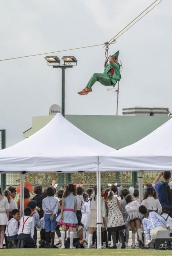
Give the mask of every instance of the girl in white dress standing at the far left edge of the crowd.
[[4, 227], [9, 221], [9, 203], [5, 196], [0, 195], [0, 249], [4, 249]]

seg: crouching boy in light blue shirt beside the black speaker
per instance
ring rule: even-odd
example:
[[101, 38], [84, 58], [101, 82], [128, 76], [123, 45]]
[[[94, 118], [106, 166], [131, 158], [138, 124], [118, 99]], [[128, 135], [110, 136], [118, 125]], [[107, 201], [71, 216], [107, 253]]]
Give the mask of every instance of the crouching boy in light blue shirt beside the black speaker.
[[[148, 240], [148, 246], [151, 244], [151, 240], [155, 239], [158, 231], [170, 229], [167, 221], [163, 219], [155, 211], [149, 212], [147, 208], [143, 205], [139, 207], [139, 211], [143, 214], [142, 225], [146, 233], [146, 238]], [[167, 229], [165, 229], [165, 227]]]

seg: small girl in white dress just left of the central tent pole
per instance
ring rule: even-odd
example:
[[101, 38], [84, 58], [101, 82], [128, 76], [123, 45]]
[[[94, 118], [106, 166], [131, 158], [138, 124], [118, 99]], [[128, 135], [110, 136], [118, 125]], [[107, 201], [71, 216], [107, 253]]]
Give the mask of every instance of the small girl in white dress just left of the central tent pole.
[[81, 212], [82, 212], [82, 219], [81, 223], [83, 223], [84, 228], [83, 228], [83, 239], [85, 239], [85, 234], [87, 230], [87, 237], [86, 240], [88, 241], [88, 235], [89, 235], [89, 227], [88, 227], [88, 221], [89, 221], [89, 215], [90, 215], [90, 204], [87, 202], [88, 201], [88, 194], [83, 193], [83, 199], [84, 203], [81, 207]]

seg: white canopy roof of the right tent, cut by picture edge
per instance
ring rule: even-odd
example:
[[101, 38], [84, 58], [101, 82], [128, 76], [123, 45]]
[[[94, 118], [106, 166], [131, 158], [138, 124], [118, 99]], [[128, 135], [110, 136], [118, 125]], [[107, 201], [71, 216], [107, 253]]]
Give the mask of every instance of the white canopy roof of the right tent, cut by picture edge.
[[172, 170], [172, 119], [130, 146], [100, 157], [100, 170]]

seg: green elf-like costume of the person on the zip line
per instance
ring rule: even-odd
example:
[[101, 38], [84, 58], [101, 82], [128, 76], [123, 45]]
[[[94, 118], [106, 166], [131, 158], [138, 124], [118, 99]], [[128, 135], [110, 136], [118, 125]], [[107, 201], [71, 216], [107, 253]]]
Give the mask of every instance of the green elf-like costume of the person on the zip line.
[[[115, 56], [117, 59], [118, 55], [119, 55], [119, 51], [117, 51], [112, 56]], [[113, 75], [111, 75], [111, 73], [109, 72], [111, 68], [114, 69]], [[91, 87], [95, 82], [100, 82], [104, 86], [111, 86], [113, 84], [116, 84], [116, 82], [119, 81], [120, 79], [121, 79], [120, 64], [116, 64], [114, 62], [112, 65], [110, 64], [107, 65], [107, 67], [104, 69], [104, 73], [94, 73], [85, 88], [91, 89]]]

